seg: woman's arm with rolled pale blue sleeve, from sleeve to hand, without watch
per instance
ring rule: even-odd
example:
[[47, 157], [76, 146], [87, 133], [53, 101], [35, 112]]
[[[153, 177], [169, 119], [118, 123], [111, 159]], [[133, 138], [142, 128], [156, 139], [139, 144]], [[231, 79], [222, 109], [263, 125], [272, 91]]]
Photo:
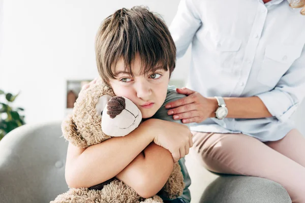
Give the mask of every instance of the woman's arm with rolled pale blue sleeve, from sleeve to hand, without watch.
[[[229, 118], [266, 118], [275, 117], [285, 122], [295, 112], [305, 96], [305, 47], [301, 56], [289, 67], [287, 72], [270, 91], [251, 97], [224, 98]], [[270, 76], [272, 77], [272, 76]], [[177, 89], [178, 93], [188, 95], [168, 104], [169, 115], [178, 116], [183, 123], [202, 122], [214, 117], [217, 101], [205, 98], [190, 89]], [[215, 95], [219, 96], [219, 95]], [[170, 106], [170, 107], [169, 107]], [[174, 109], [172, 109], [174, 108]], [[172, 113], [170, 113], [172, 111]]]

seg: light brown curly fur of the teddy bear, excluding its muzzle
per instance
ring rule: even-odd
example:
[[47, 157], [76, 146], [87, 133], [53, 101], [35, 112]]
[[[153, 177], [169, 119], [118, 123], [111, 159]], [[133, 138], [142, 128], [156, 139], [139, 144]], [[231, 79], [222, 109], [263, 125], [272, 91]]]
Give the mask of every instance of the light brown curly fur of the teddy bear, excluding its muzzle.
[[[90, 145], [101, 143], [111, 137], [102, 131], [102, 116], [96, 113], [96, 104], [98, 99], [109, 94], [115, 96], [111, 88], [105, 86], [101, 80], [96, 84], [90, 85], [83, 90], [74, 104], [73, 114], [62, 123], [62, 131], [66, 140], [73, 145], [86, 148]], [[181, 168], [178, 163], [174, 164], [173, 171], [160, 191], [160, 194], [167, 198], [177, 198], [185, 188]], [[103, 186], [101, 190], [88, 188], [71, 188], [68, 192], [60, 194], [51, 203], [82, 203], [82, 202], [163, 202], [155, 195], [144, 199], [139, 196], [134, 189], [123, 182], [114, 179], [109, 184]]]

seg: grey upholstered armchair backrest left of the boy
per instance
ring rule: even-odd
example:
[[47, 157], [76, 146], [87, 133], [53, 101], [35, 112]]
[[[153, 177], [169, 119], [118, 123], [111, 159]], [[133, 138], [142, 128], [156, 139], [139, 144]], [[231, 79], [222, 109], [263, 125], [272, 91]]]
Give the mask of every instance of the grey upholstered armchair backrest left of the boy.
[[69, 188], [60, 122], [23, 125], [0, 141], [0, 202], [49, 202]]

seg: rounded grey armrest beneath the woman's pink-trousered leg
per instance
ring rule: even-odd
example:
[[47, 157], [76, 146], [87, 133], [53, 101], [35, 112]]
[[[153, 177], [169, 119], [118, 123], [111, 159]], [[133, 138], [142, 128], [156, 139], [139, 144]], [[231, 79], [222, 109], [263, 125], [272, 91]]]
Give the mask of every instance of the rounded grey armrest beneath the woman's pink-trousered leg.
[[291, 203], [285, 188], [273, 181], [248, 176], [222, 175], [205, 189], [204, 203]]

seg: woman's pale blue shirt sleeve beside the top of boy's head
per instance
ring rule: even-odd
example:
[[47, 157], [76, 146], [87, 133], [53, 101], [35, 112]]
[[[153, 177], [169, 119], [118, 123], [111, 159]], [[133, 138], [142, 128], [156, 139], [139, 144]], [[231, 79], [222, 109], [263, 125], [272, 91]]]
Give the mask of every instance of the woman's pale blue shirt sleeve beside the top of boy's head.
[[177, 57], [182, 57], [187, 51], [197, 29], [201, 25], [196, 0], [181, 0], [177, 13], [171, 22], [169, 30], [175, 42]]

